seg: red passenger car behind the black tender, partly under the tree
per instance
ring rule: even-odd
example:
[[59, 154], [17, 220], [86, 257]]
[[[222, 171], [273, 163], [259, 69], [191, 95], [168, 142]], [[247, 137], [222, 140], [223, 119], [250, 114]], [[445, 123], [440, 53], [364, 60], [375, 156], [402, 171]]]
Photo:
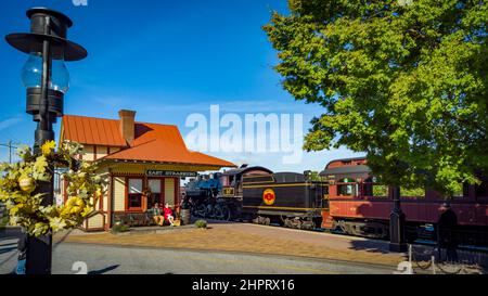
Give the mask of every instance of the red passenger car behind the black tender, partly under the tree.
[[[329, 180], [329, 213], [323, 214], [322, 227], [341, 228], [344, 232], [370, 237], [388, 237], [389, 214], [393, 201], [388, 188], [377, 184], [365, 158], [338, 159], [329, 163], [321, 172]], [[406, 192], [406, 191], [403, 191]], [[408, 193], [408, 192], [407, 192]], [[423, 193], [423, 194], [422, 194]], [[407, 218], [407, 239], [414, 240], [439, 218], [439, 206], [445, 198], [435, 191], [423, 191], [416, 196], [401, 196], [401, 208]], [[458, 215], [462, 241], [487, 244], [488, 182], [465, 185], [463, 193], [451, 201]]]

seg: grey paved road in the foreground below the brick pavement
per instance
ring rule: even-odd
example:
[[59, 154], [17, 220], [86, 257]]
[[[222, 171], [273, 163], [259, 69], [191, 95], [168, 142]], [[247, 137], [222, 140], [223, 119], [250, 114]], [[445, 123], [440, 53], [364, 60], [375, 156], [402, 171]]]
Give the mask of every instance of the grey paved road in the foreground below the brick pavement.
[[[15, 240], [0, 241], [0, 273], [15, 267]], [[89, 273], [114, 274], [389, 274], [390, 267], [283, 256], [155, 249], [143, 247], [60, 244], [53, 253], [53, 273], [70, 274], [77, 261]]]

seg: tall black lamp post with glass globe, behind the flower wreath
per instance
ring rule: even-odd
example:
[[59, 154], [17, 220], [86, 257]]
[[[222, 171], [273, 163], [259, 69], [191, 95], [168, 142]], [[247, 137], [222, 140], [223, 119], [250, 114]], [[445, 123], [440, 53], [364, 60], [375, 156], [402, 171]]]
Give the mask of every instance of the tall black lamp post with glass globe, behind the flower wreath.
[[[67, 28], [73, 22], [66, 15], [35, 8], [27, 11], [30, 33], [11, 34], [7, 42], [15, 49], [29, 54], [22, 72], [22, 80], [27, 88], [27, 113], [37, 124], [34, 152], [54, 140], [52, 125], [63, 116], [63, 99], [69, 87], [69, 74], [64, 62], [79, 61], [87, 51], [66, 39]], [[36, 193], [46, 194], [43, 205], [53, 204], [53, 179], [41, 182]], [[50, 274], [52, 236], [28, 237], [26, 273]]]

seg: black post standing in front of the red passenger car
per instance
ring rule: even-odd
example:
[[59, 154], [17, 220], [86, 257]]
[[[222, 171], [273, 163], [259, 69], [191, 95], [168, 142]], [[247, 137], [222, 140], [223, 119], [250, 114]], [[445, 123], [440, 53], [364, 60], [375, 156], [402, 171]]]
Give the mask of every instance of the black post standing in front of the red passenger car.
[[389, 250], [406, 252], [404, 242], [404, 214], [400, 206], [400, 186], [390, 186], [389, 196], [394, 202], [391, 214], [389, 215]]

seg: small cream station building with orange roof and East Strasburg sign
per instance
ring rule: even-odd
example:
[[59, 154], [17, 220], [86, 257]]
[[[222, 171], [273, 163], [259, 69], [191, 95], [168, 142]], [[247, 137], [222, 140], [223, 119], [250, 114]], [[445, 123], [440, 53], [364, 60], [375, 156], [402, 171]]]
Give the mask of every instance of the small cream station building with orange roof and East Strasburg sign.
[[[60, 142], [84, 145], [84, 159], [94, 162], [107, 183], [97, 211], [84, 223], [86, 231], [108, 230], [120, 219], [138, 219], [155, 203], [180, 203], [180, 179], [198, 171], [235, 167], [234, 164], [192, 152], [177, 126], [136, 121], [136, 112], [119, 111], [119, 119], [65, 115]], [[67, 200], [67, 182], [61, 178]]]

